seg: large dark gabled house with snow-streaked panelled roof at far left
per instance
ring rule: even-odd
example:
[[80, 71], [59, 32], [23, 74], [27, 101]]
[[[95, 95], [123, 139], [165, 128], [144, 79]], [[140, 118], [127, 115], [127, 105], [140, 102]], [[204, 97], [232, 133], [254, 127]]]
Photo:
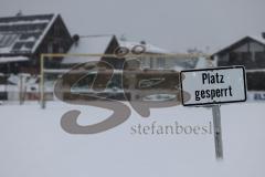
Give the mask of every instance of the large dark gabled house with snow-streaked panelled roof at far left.
[[41, 53], [65, 53], [73, 43], [60, 14], [0, 18], [0, 73], [39, 73]]

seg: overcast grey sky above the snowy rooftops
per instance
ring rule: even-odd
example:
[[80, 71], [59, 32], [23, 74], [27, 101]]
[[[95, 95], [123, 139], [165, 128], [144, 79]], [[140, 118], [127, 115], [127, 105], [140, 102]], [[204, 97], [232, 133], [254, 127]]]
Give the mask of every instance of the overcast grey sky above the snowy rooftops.
[[0, 15], [61, 13], [72, 34], [124, 34], [210, 52], [265, 31], [265, 0], [0, 0]]

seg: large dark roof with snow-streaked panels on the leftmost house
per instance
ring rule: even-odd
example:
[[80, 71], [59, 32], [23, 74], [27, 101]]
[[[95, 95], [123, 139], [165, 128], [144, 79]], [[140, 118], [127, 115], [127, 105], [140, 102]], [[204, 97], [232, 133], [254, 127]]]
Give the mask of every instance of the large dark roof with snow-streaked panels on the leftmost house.
[[34, 53], [57, 14], [0, 18], [0, 54]]

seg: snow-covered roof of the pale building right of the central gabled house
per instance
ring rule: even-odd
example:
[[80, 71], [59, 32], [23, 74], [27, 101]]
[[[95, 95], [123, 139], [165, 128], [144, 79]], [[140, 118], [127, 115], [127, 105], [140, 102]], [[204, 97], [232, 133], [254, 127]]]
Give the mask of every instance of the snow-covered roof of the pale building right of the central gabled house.
[[146, 48], [146, 53], [169, 53], [168, 50], [155, 46], [155, 45], [149, 44], [149, 43], [141, 44], [140, 42], [123, 41], [123, 40], [119, 40], [118, 43], [119, 43], [120, 46], [128, 48], [129, 50], [131, 50], [136, 45], [142, 45], [142, 46]]

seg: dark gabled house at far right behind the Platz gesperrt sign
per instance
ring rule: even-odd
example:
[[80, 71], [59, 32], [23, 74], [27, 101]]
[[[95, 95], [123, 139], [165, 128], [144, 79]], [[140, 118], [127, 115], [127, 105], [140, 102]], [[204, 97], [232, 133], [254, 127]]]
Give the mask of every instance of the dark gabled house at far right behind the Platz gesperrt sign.
[[245, 37], [212, 54], [218, 66], [244, 65], [250, 91], [265, 91], [265, 34]]

